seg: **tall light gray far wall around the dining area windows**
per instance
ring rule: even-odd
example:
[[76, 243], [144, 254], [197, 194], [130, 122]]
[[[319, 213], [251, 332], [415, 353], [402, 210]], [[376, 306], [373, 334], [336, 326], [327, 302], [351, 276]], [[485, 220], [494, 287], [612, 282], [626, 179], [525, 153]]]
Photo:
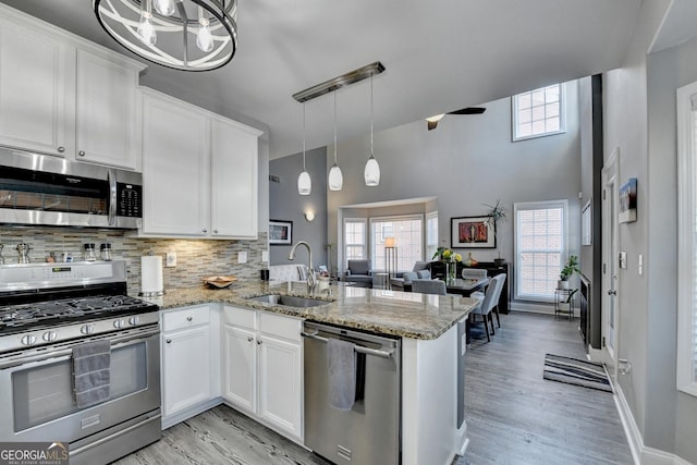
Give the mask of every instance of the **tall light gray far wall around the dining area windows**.
[[[566, 85], [567, 132], [511, 142], [511, 100], [484, 105], [480, 115], [447, 115], [433, 131], [425, 121], [375, 134], [375, 155], [382, 176], [366, 187], [363, 169], [368, 137], [341, 142], [339, 164], [344, 188], [328, 193], [328, 231], [341, 244], [338, 210], [342, 206], [403, 198], [438, 197], [426, 211], [439, 212], [439, 244], [450, 246], [450, 219], [484, 215], [485, 204], [501, 199], [509, 220], [503, 223], [502, 256], [513, 258], [512, 207], [515, 201], [568, 199], [570, 244], [578, 253], [580, 143], [576, 83]], [[333, 148], [327, 148], [333, 162]], [[328, 161], [328, 166], [331, 164]], [[339, 247], [341, 250], [341, 247]], [[496, 249], [460, 249], [479, 261], [496, 258]]]

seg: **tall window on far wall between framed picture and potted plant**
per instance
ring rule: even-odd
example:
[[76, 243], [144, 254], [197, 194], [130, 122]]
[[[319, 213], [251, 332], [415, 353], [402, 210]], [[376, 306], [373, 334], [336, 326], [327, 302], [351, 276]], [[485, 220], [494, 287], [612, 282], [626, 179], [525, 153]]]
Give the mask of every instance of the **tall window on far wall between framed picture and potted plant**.
[[514, 204], [518, 299], [552, 301], [566, 260], [566, 200]]

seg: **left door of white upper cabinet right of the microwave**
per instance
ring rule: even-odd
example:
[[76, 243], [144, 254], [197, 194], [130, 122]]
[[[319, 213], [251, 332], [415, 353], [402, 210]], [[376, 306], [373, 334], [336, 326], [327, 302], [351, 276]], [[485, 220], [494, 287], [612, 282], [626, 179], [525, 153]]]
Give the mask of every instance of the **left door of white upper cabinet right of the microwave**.
[[143, 232], [208, 235], [209, 120], [173, 100], [144, 96]]

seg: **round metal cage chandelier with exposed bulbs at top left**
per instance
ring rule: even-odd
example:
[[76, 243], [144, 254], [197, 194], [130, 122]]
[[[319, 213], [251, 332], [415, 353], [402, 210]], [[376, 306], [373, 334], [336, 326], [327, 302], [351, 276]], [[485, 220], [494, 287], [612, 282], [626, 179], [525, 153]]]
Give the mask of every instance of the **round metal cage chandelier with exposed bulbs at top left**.
[[236, 0], [93, 0], [93, 9], [119, 44], [167, 68], [216, 70], [237, 50]]

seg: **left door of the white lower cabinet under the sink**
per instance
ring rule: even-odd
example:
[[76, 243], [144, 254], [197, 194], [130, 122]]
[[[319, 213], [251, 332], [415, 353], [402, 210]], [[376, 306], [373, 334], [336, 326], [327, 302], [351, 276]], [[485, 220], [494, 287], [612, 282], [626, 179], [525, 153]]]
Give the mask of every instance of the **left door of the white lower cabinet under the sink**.
[[255, 331], [225, 325], [223, 330], [223, 397], [256, 413], [257, 338]]

